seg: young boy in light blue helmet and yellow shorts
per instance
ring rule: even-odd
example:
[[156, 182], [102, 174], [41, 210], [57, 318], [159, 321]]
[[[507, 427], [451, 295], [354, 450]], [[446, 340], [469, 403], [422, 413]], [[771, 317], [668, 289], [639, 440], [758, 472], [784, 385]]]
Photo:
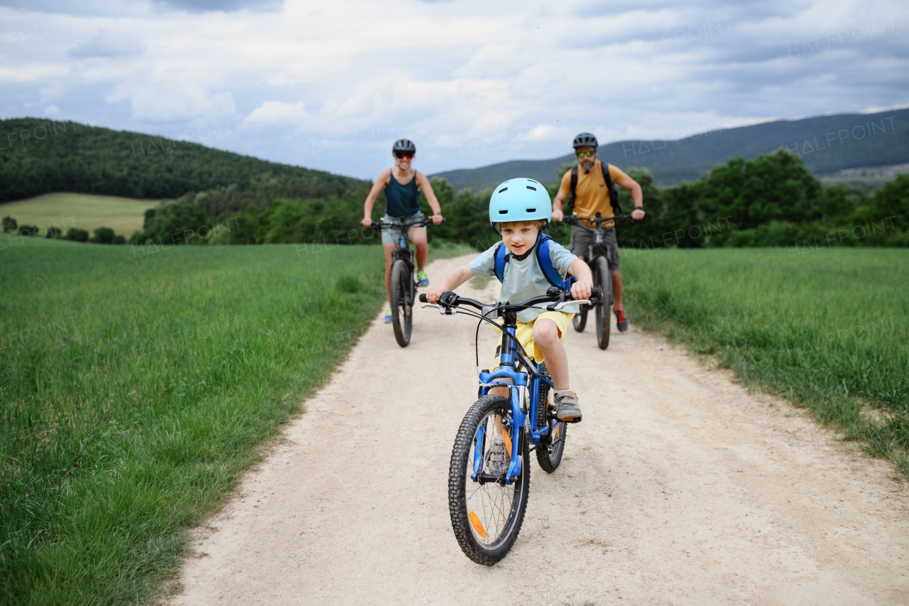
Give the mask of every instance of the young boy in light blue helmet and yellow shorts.
[[[542, 250], [540, 245], [544, 239], [542, 230], [548, 225], [550, 217], [552, 205], [549, 194], [545, 187], [533, 179], [509, 179], [496, 187], [489, 200], [489, 220], [501, 234], [502, 242], [480, 253], [468, 265], [452, 270], [438, 287], [426, 291], [426, 300], [436, 303], [474, 276], [496, 276], [496, 257], [503, 252], [500, 250], [503, 246], [507, 249], [507, 254], [504, 256], [504, 270], [498, 274], [502, 280], [500, 301], [516, 303], [544, 296], [546, 290], [553, 286], [552, 278], [547, 278], [545, 273], [548, 268], [554, 268], [563, 279], [567, 274], [572, 274], [577, 278], [571, 287], [572, 297], [579, 300], [588, 298], [593, 288], [590, 268], [551, 238], [546, 242], [548, 258], [543, 259], [548, 267], [541, 266], [538, 253]], [[567, 422], [581, 420], [577, 396], [569, 389], [568, 358], [562, 345], [573, 316], [574, 313], [564, 311], [527, 308], [517, 313], [515, 333], [524, 351], [535, 362], [539, 363], [541, 359], [545, 361], [553, 379], [557, 419]], [[496, 356], [494, 367], [497, 369], [498, 366], [499, 359]], [[492, 392], [505, 397], [508, 395], [505, 388], [496, 388]]]

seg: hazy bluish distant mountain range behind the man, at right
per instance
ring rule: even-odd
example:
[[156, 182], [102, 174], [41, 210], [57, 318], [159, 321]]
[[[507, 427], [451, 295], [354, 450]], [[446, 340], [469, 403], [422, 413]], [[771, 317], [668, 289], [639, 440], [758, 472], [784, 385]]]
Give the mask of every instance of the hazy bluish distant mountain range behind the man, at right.
[[[568, 147], [569, 141], [565, 141]], [[753, 158], [786, 147], [803, 157], [815, 175], [844, 168], [883, 167], [909, 162], [909, 109], [879, 114], [840, 114], [720, 128], [675, 141], [619, 141], [600, 147], [599, 158], [623, 170], [642, 167], [660, 186], [694, 181], [729, 158]], [[455, 189], [480, 191], [510, 177], [555, 181], [555, 170], [576, 162], [574, 154], [550, 160], [512, 160], [488, 167], [436, 173]]]

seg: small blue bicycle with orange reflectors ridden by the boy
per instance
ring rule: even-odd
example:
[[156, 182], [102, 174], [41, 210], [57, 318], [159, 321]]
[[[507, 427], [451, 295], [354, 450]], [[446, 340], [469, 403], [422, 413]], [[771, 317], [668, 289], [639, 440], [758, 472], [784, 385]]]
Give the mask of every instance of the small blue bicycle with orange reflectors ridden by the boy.
[[[595, 288], [594, 294], [599, 294]], [[425, 303], [426, 296], [420, 295], [420, 300]], [[448, 511], [454, 536], [464, 554], [478, 564], [491, 566], [502, 560], [517, 539], [530, 490], [530, 452], [536, 451], [536, 460], [547, 473], [558, 468], [564, 453], [567, 426], [555, 418], [549, 401], [553, 381], [545, 364], [534, 363], [515, 337], [517, 312], [540, 303], [549, 303], [548, 310], [560, 310], [588, 302], [549, 288], [544, 297], [517, 305], [484, 304], [447, 291], [438, 305], [423, 306], [448, 316], [480, 318], [479, 324], [489, 322], [502, 330], [498, 370], [480, 370], [477, 350], [479, 399], [461, 421], [448, 468]], [[501, 325], [495, 322], [499, 318]], [[493, 388], [506, 388], [510, 395], [492, 394]]]

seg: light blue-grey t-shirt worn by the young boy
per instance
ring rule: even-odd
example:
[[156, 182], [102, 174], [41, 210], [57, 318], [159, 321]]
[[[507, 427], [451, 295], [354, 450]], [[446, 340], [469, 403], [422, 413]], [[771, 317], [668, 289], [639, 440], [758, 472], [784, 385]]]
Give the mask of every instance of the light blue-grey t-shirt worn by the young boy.
[[[495, 248], [497, 246], [498, 244], [494, 244], [493, 247], [484, 250], [479, 257], [474, 258], [470, 262], [470, 270], [474, 272], [474, 276], [495, 276]], [[553, 262], [553, 267], [562, 278], [567, 275], [569, 266], [576, 258], [558, 242], [549, 242], [549, 259]], [[508, 301], [509, 303], [521, 303], [528, 298], [542, 297], [546, 294], [546, 289], [551, 286], [543, 273], [543, 268], [540, 267], [539, 262], [536, 260], [536, 251], [531, 250], [523, 261], [512, 257], [505, 263], [502, 292], [499, 295], [499, 300]], [[545, 305], [547, 304], [541, 303], [537, 307], [519, 311], [517, 318], [522, 322], [533, 322], [545, 311], [543, 309]], [[577, 313], [578, 310], [577, 306], [570, 306], [564, 308], [563, 311]]]

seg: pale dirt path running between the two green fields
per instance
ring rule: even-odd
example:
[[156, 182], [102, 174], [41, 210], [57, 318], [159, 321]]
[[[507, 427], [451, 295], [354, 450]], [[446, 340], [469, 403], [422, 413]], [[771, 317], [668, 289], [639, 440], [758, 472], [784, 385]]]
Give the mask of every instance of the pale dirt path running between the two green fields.
[[569, 335], [584, 422], [554, 474], [532, 457], [512, 552], [467, 560], [446, 486], [474, 326], [417, 310], [402, 349], [377, 320], [199, 532], [171, 604], [909, 603], [889, 466], [634, 325], [606, 351]]

